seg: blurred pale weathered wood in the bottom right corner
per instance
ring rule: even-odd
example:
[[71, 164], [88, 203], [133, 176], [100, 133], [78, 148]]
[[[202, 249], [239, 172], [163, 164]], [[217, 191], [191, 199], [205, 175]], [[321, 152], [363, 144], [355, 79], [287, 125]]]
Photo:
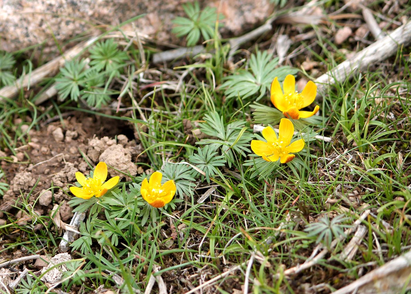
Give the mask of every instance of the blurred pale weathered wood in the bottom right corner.
[[332, 293], [399, 293], [404, 286], [411, 287], [410, 275], [411, 251], [408, 251]]

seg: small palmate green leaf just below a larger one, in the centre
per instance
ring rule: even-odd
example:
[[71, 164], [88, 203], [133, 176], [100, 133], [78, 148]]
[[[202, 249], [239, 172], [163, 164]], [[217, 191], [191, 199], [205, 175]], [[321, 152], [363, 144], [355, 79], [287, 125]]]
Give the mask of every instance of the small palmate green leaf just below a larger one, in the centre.
[[[189, 161], [196, 165], [197, 168], [205, 172], [205, 178], [207, 182], [210, 183], [210, 175], [214, 176], [217, 174], [217, 166], [224, 166], [226, 160], [224, 156], [217, 156], [217, 147], [213, 145], [205, 145], [203, 148], [199, 147], [198, 153], [189, 156]], [[198, 172], [197, 172], [198, 173]], [[201, 175], [201, 181], [203, 181], [204, 176]]]

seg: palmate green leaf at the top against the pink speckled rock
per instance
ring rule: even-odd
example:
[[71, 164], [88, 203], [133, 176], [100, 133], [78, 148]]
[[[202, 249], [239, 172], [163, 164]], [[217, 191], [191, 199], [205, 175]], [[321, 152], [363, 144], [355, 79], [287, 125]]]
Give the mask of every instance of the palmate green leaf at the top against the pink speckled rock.
[[[173, 19], [175, 27], [171, 30], [177, 37], [187, 35], [187, 46], [194, 46], [201, 35], [204, 40], [211, 39], [214, 35], [217, 13], [215, 7], [205, 7], [200, 10], [199, 2], [182, 5], [188, 18], [178, 16]], [[220, 19], [223, 16], [220, 14]]]

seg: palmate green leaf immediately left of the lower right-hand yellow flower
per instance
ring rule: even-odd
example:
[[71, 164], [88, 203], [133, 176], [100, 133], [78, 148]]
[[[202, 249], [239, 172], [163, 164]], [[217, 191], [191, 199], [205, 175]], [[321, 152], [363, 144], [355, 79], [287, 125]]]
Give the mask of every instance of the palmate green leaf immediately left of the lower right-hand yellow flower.
[[245, 121], [235, 121], [224, 126], [223, 118], [217, 112], [204, 115], [203, 120], [205, 123], [199, 124], [201, 131], [218, 139], [203, 139], [196, 144], [211, 144], [219, 148], [229, 167], [234, 162], [233, 152], [242, 156], [251, 152], [248, 147], [252, 133], [243, 130]]

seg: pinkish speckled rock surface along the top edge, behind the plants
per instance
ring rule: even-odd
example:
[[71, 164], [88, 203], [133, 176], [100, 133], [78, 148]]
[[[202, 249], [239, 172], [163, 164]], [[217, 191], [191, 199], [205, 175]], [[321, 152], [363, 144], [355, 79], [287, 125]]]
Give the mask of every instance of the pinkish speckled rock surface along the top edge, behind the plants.
[[[55, 52], [52, 33], [60, 45], [79, 34], [90, 35], [96, 25], [118, 25], [139, 14], [139, 32], [159, 42], [181, 44], [171, 20], [185, 16], [182, 4], [192, 0], [0, 0], [0, 49], [15, 51], [45, 41], [43, 53]], [[200, 0], [224, 14], [222, 32], [238, 35], [264, 21], [272, 12], [269, 0]], [[124, 29], [132, 29], [128, 24]], [[57, 52], [57, 51], [56, 51]]]

